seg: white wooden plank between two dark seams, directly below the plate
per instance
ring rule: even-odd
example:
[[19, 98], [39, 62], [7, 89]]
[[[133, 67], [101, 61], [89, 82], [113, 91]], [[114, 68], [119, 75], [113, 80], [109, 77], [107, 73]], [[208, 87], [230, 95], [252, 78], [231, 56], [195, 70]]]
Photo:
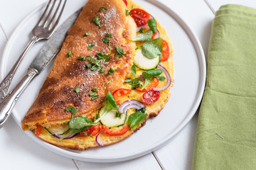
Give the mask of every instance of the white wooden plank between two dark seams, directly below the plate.
[[[127, 148], [129, 149], [129, 148]], [[160, 170], [161, 167], [159, 166], [158, 162], [154, 158], [153, 154], [146, 154], [144, 157], [139, 157], [137, 159], [132, 159], [126, 162], [117, 162], [117, 163], [107, 163], [107, 164], [100, 164], [100, 163], [89, 163], [89, 162], [80, 162], [75, 160], [78, 168], [80, 170], [87, 170], [87, 169], [94, 169], [94, 170], [134, 170], [134, 169], [146, 169], [146, 170]]]

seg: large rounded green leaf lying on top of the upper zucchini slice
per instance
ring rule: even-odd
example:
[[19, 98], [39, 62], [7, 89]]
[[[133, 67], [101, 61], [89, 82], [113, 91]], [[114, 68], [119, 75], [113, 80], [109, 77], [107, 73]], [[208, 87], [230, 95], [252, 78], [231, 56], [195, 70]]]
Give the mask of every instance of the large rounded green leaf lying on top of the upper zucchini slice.
[[142, 45], [142, 54], [149, 59], [155, 58], [161, 55], [162, 49], [162, 38], [156, 38], [153, 40], [148, 40]]

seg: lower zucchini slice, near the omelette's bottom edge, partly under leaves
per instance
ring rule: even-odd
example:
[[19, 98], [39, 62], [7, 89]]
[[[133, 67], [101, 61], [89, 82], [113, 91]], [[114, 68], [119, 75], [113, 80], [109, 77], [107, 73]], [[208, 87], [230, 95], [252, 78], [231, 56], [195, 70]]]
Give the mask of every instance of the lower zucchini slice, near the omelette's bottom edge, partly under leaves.
[[[102, 115], [105, 107], [100, 108], [100, 116]], [[109, 128], [119, 127], [125, 124], [127, 120], [127, 113], [121, 114], [121, 118], [115, 117], [117, 111], [109, 111], [104, 117], [101, 118], [100, 123], [107, 125]]]

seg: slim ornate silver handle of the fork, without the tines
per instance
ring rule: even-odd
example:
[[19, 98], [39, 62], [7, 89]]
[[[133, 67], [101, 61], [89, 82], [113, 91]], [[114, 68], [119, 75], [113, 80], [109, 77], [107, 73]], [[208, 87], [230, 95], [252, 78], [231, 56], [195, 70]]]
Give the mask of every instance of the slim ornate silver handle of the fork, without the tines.
[[21, 53], [20, 57], [18, 57], [17, 62], [14, 64], [14, 66], [11, 68], [10, 72], [6, 75], [3, 81], [1, 81], [0, 84], [0, 103], [4, 100], [4, 97], [7, 95], [11, 81], [14, 78], [14, 74], [16, 73], [19, 65], [21, 64], [21, 61], [28, 53], [28, 50], [31, 49], [33, 44], [38, 41], [38, 38], [36, 36], [33, 36], [31, 40], [28, 42], [28, 45], [26, 45], [25, 50]]

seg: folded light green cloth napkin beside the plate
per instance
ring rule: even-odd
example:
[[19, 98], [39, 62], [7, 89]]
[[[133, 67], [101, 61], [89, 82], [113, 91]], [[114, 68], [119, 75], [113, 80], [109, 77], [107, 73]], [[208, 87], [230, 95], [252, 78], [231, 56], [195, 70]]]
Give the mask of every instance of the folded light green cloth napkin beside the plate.
[[221, 6], [213, 20], [193, 169], [256, 169], [256, 9]]

